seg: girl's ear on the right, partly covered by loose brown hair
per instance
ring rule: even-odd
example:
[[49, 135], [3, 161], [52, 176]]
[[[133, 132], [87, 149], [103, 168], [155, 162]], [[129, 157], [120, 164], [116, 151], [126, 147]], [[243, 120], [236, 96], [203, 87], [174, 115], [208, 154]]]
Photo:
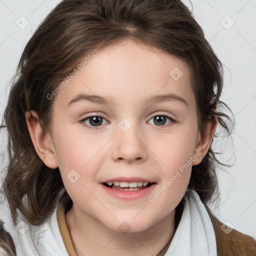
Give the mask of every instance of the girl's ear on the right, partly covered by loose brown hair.
[[193, 161], [193, 165], [199, 164], [202, 158], [207, 153], [210, 147], [213, 135], [215, 133], [216, 127], [217, 127], [217, 116], [214, 116], [214, 118], [208, 121], [206, 125], [206, 132], [204, 134], [201, 134], [200, 132], [198, 132], [197, 144], [194, 149], [194, 154], [198, 155], [198, 157]]

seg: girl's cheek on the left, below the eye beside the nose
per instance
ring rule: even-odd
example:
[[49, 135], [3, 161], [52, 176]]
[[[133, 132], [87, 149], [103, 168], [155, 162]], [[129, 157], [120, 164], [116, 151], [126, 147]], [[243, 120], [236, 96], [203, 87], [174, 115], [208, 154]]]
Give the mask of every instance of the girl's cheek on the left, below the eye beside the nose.
[[107, 141], [107, 138], [97, 139], [95, 135], [64, 127], [55, 134], [61, 178], [72, 199], [80, 197], [81, 193], [90, 196], [84, 186], [93, 192], [95, 175], [102, 164], [102, 155], [106, 153], [104, 145]]

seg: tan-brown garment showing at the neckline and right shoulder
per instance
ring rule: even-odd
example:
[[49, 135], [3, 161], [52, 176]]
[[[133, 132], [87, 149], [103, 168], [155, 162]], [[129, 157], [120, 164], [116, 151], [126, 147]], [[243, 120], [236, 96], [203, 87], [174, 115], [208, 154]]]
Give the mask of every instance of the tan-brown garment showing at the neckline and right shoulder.
[[[256, 241], [252, 237], [235, 229], [233, 229], [229, 234], [226, 234], [220, 228], [223, 223], [213, 215], [213, 213], [206, 205], [205, 207], [208, 211], [216, 236], [217, 256], [256, 256]], [[57, 207], [57, 221], [59, 231], [68, 255], [77, 256], [73, 247], [72, 239], [66, 226], [65, 212], [66, 210], [64, 205], [60, 203]], [[170, 245], [171, 239], [172, 237], [156, 256], [164, 256]]]

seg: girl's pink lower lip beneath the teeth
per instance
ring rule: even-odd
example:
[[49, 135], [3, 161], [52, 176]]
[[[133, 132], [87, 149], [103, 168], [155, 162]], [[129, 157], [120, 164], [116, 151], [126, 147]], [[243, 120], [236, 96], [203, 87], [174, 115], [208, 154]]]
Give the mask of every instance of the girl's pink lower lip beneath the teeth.
[[142, 197], [148, 195], [150, 192], [152, 192], [152, 190], [156, 186], [156, 183], [153, 183], [152, 185], [150, 185], [146, 188], [143, 188], [143, 189], [131, 190], [131, 191], [114, 189], [111, 187], [107, 187], [107, 186], [103, 185], [102, 183], [100, 183], [100, 185], [106, 193], [110, 194], [111, 196], [113, 196], [117, 199], [136, 200], [136, 199], [142, 198]]

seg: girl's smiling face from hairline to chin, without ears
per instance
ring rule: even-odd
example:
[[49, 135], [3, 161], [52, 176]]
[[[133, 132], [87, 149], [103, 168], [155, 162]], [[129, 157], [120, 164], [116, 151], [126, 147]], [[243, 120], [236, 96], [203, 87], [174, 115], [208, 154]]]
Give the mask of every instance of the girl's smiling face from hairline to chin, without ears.
[[[64, 186], [80, 216], [116, 231], [123, 221], [143, 231], [173, 212], [200, 155], [189, 68], [126, 40], [76, 70], [54, 96], [52, 113]], [[134, 191], [103, 184], [144, 180], [152, 184]]]

